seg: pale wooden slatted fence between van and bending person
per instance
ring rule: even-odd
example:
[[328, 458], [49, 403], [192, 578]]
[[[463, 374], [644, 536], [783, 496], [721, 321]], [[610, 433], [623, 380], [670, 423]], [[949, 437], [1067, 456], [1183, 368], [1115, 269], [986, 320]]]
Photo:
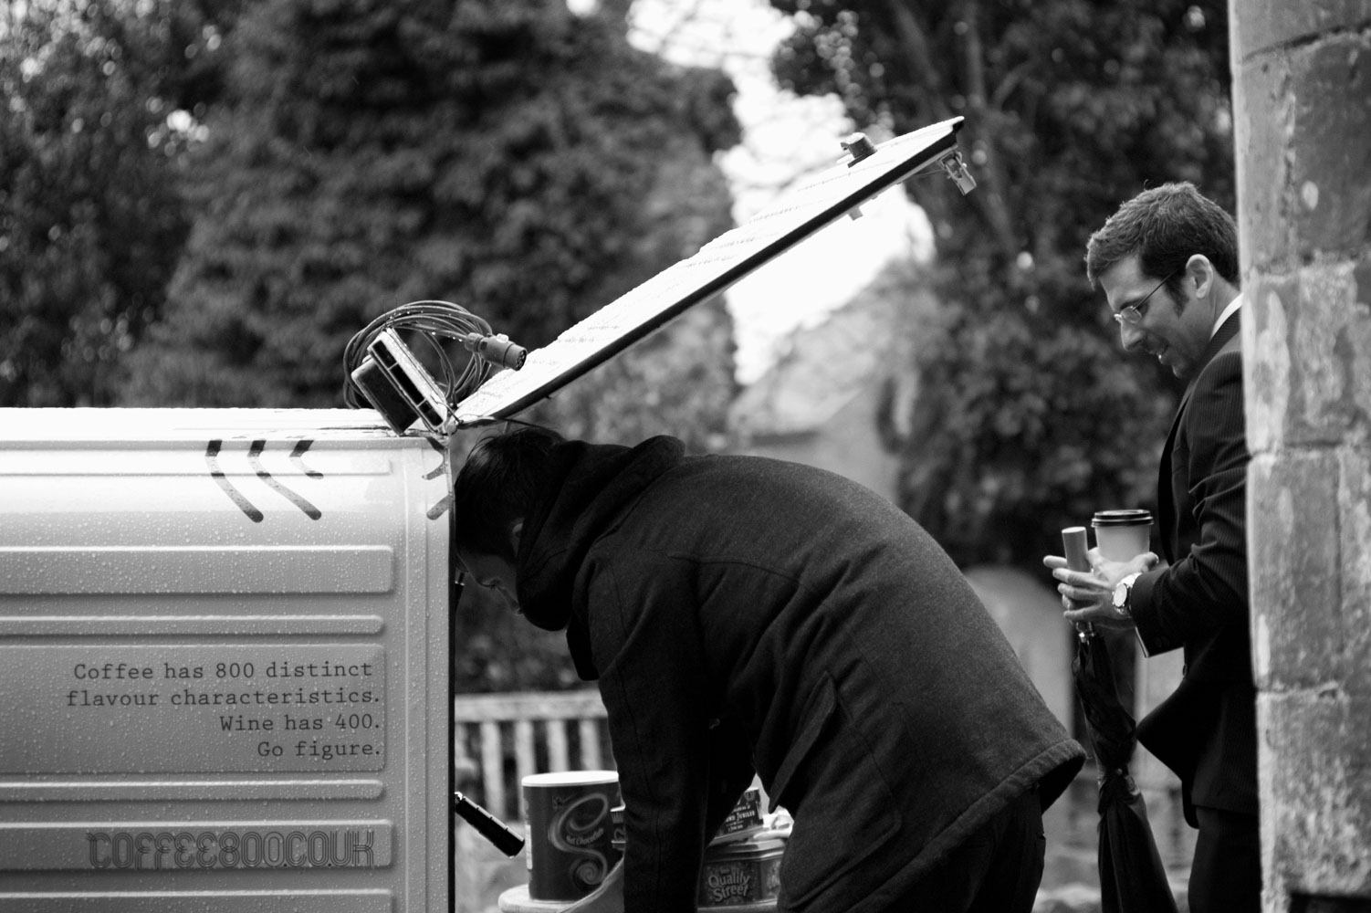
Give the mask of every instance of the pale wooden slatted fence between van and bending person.
[[510, 824], [524, 821], [526, 775], [614, 769], [594, 690], [458, 695], [452, 725], [457, 788]]

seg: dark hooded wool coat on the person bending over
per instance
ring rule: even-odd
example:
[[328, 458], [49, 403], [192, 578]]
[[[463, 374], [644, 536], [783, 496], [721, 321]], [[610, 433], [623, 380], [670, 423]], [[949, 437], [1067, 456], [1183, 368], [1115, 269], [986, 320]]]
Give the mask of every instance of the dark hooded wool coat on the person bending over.
[[877, 910], [1084, 753], [936, 543], [808, 466], [568, 443], [518, 598], [599, 679], [627, 803], [625, 908], [695, 910], [750, 783], [795, 817], [780, 909]]

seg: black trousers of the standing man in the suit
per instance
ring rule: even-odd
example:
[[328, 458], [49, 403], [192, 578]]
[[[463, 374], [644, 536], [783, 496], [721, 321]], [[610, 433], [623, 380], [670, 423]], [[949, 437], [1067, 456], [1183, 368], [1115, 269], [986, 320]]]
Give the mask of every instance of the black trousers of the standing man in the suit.
[[1257, 913], [1261, 909], [1261, 838], [1257, 816], [1196, 806], [1200, 836], [1190, 864], [1190, 913]]

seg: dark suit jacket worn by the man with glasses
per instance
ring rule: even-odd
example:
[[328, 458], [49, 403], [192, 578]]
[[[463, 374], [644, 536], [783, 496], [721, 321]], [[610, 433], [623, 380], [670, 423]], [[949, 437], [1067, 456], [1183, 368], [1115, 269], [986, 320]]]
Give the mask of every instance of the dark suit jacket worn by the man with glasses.
[[1161, 455], [1157, 509], [1168, 565], [1134, 584], [1149, 655], [1180, 647], [1176, 691], [1138, 725], [1191, 805], [1257, 812], [1256, 690], [1248, 609], [1241, 310], [1201, 355]]

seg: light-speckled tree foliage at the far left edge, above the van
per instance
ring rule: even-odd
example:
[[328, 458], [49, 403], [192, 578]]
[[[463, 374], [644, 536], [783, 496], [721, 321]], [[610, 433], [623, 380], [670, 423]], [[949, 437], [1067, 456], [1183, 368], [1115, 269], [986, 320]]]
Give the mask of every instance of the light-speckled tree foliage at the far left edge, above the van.
[[107, 403], [185, 232], [144, 92], [155, 38], [107, 3], [5, 12], [0, 406]]

